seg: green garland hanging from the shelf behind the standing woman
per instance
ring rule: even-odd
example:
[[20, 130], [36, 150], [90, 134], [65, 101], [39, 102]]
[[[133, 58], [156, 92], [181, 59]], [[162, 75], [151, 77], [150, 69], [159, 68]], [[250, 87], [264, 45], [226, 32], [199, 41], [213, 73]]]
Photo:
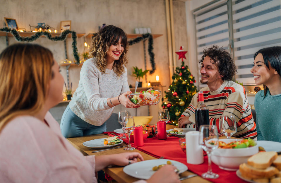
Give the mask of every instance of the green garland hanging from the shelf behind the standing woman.
[[[97, 33], [94, 33], [92, 38], [95, 37]], [[150, 33], [143, 34], [142, 37], [137, 37], [133, 40], [128, 41], [129, 45], [134, 45], [144, 39], [148, 38], [148, 54], [150, 56], [150, 64], [152, 67], [152, 70], [149, 71], [150, 74], [153, 74], [154, 71], [156, 70], [155, 68], [155, 61], [154, 61], [154, 53], [153, 53], [153, 36]]]

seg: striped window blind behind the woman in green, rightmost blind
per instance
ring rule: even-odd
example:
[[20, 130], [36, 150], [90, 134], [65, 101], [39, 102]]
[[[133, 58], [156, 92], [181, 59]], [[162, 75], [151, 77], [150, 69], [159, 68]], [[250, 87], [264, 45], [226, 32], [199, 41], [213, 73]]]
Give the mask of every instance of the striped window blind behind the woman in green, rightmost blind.
[[232, 0], [232, 22], [236, 81], [255, 84], [253, 54], [281, 46], [280, 0]]

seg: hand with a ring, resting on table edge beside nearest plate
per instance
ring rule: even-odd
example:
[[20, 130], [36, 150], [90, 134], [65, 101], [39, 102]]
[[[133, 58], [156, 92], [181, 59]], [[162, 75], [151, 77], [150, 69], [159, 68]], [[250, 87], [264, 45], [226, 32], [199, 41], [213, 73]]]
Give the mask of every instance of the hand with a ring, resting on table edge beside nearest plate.
[[137, 152], [115, 154], [113, 157], [114, 161], [112, 163], [118, 166], [126, 166], [132, 163], [137, 163], [138, 158], [140, 161], [143, 161], [143, 157]]

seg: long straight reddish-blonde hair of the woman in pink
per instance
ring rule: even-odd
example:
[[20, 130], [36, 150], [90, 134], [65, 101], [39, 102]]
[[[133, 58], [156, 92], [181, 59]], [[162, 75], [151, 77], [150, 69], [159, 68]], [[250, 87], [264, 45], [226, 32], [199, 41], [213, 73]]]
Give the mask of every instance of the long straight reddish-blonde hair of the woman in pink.
[[15, 44], [0, 54], [0, 132], [13, 118], [42, 109], [53, 64], [52, 52], [40, 45]]

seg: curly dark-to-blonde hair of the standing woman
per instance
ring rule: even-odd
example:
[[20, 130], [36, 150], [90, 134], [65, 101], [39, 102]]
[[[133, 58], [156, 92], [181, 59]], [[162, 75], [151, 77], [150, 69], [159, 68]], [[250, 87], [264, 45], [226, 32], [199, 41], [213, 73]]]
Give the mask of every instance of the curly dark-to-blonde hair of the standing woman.
[[128, 51], [127, 36], [121, 28], [114, 25], [107, 25], [102, 28], [92, 40], [92, 49], [89, 52], [89, 58], [95, 57], [97, 59], [98, 69], [105, 73], [107, 67], [106, 53], [109, 47], [116, 44], [121, 37], [121, 44], [124, 46], [124, 51], [119, 57], [119, 60], [115, 60], [113, 64], [113, 71], [119, 77], [125, 71], [125, 67], [128, 64], [126, 53]]

